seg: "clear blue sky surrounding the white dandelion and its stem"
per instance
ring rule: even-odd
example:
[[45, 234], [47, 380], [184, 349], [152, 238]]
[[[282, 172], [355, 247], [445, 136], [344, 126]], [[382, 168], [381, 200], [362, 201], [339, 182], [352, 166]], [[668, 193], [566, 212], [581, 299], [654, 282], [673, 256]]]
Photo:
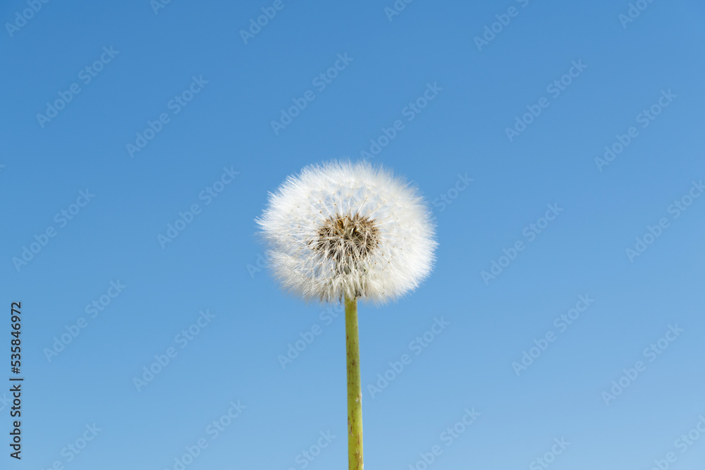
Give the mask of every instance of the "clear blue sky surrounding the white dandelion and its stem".
[[366, 151], [440, 244], [360, 306], [367, 468], [701, 469], [705, 7], [637, 3], [2, 2], [0, 467], [347, 468], [344, 323], [254, 220]]

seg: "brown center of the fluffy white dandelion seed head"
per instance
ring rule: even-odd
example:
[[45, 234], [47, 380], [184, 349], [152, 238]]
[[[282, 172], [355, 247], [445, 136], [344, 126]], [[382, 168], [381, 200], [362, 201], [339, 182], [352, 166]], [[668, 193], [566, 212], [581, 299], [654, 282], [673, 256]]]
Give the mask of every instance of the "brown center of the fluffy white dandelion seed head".
[[337, 263], [362, 261], [379, 243], [379, 229], [360, 214], [328, 218], [318, 230], [313, 248]]

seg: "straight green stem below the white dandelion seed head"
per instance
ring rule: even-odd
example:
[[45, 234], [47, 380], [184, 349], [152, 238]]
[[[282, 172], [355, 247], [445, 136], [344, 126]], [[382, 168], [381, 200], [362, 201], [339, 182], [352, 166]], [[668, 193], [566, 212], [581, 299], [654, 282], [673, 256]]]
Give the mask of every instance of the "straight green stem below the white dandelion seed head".
[[362, 384], [357, 299], [345, 297], [345, 346], [348, 351], [348, 466], [362, 470]]

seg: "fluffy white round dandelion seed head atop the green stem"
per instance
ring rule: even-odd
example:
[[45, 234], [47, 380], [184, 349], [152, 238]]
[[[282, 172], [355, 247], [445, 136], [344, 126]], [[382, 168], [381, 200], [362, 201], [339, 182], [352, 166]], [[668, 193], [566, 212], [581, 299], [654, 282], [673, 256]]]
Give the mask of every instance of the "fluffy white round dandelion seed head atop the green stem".
[[364, 161], [289, 176], [257, 223], [274, 275], [307, 301], [386, 302], [414, 290], [435, 260], [431, 213], [416, 188]]

